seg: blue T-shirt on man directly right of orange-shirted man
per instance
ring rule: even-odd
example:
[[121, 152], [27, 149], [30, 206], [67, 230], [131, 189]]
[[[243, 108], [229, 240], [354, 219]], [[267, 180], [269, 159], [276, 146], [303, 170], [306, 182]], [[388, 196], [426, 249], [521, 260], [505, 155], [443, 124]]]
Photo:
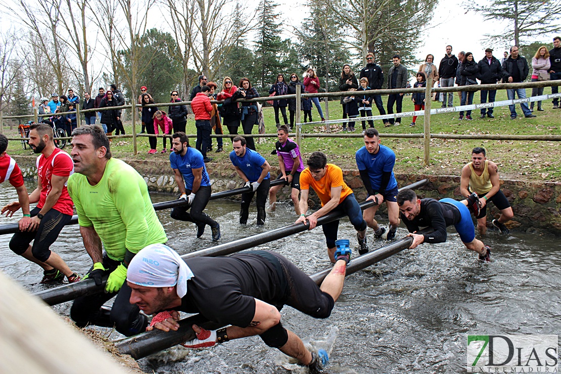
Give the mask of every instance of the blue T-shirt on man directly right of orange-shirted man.
[[391, 172], [386, 191], [392, 191], [397, 188], [396, 177], [393, 175], [393, 165], [396, 164], [396, 154], [387, 146], [380, 144], [380, 150], [375, 155], [371, 155], [362, 147], [356, 151], [356, 165], [358, 170], [368, 170], [370, 184], [374, 191], [380, 189], [383, 172]]

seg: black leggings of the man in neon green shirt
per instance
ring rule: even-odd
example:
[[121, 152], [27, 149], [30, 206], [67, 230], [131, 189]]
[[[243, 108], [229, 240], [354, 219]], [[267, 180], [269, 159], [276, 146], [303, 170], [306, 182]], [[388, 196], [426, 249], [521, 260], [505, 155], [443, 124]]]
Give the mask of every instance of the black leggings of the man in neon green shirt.
[[[115, 270], [119, 264], [121, 264], [121, 261], [112, 260], [107, 256], [107, 253], [103, 253], [103, 266], [108, 269], [105, 271], [106, 275]], [[90, 271], [92, 269], [93, 267]], [[70, 318], [76, 322], [78, 327], [87, 325], [114, 326], [119, 333], [125, 336], [143, 333], [148, 326], [148, 318], [140, 314], [140, 309], [136, 304], [129, 302], [131, 288], [128, 287], [126, 281], [117, 293], [111, 313], [101, 309], [102, 305], [115, 295], [115, 293], [100, 292], [77, 298], [70, 308]]]

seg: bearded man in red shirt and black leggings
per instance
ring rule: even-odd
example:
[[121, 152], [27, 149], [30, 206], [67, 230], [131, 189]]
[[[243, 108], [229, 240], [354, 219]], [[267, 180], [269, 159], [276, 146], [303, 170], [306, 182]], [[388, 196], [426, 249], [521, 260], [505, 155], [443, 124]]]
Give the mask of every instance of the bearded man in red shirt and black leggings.
[[[80, 276], [73, 273], [62, 258], [50, 251], [62, 228], [71, 220], [72, 200], [66, 188], [68, 177], [74, 172], [74, 163], [69, 154], [54, 146], [53, 129], [46, 124], [32, 124], [29, 128], [29, 145], [34, 153], [40, 153], [36, 165], [39, 174], [37, 188], [29, 195], [31, 223], [26, 230], [19, 230], [10, 241], [10, 249], [43, 267], [41, 283], [59, 281], [64, 278], [74, 283]], [[12, 202], [2, 209], [15, 212], [19, 202]], [[33, 241], [33, 246], [30, 245]]]

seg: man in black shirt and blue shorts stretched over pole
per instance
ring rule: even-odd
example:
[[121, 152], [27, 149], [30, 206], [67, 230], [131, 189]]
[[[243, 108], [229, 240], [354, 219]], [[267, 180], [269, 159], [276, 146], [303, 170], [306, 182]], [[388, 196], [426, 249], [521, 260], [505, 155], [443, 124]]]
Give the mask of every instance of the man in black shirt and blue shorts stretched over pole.
[[[417, 198], [412, 190], [402, 190], [397, 194], [399, 215], [405, 223], [413, 242], [409, 248], [415, 248], [421, 243], [444, 243], [447, 238], [446, 228], [454, 225], [462, 243], [468, 250], [479, 253], [480, 261], [491, 261], [490, 248], [475, 238], [475, 228], [471, 220], [468, 205], [477, 204], [474, 193], [466, 200], [456, 201], [452, 198], [435, 200], [434, 198]], [[434, 229], [430, 234], [417, 234], [420, 227]]]

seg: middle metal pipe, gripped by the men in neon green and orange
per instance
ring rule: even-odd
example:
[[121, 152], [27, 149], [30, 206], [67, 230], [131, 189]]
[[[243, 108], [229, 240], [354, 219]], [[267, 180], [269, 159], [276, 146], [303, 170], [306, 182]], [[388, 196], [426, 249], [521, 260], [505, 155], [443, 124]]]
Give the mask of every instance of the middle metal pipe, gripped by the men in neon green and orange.
[[[428, 181], [429, 181], [428, 179], [422, 179], [421, 181], [411, 183], [408, 186], [402, 187], [400, 190], [403, 189], [412, 190], [414, 188], [424, 186], [424, 184], [426, 184]], [[374, 206], [374, 202], [371, 200], [360, 203], [360, 207], [363, 210], [371, 206]], [[345, 215], [343, 213], [340, 214], [334, 212], [329, 213], [318, 219], [318, 226], [323, 225], [324, 223], [328, 223], [330, 221], [334, 221], [336, 219], [341, 219], [344, 216]], [[247, 250], [248, 248], [259, 246], [260, 244], [263, 243], [269, 243], [280, 238], [284, 238], [299, 232], [306, 231], [308, 227], [309, 224], [293, 223], [285, 227], [281, 227], [275, 230], [270, 230], [268, 232], [261, 233], [261, 234], [256, 234], [247, 238], [238, 239], [233, 242], [219, 244], [218, 246], [206, 248], [204, 250], [186, 253], [185, 255], [181, 256], [181, 258], [183, 258], [183, 260], [187, 260], [187, 258], [192, 258], [192, 257], [226, 256], [226, 255], [230, 255], [231, 253]], [[106, 280], [107, 278], [104, 278], [102, 286], [99, 287], [96, 287], [93, 279], [86, 279], [78, 283], [70, 283], [70, 284], [62, 285], [60, 287], [55, 287], [48, 290], [35, 292], [33, 293], [33, 295], [39, 297], [50, 306], [53, 306], [56, 304], [71, 301], [72, 299], [75, 299], [77, 297], [101, 292]]]

